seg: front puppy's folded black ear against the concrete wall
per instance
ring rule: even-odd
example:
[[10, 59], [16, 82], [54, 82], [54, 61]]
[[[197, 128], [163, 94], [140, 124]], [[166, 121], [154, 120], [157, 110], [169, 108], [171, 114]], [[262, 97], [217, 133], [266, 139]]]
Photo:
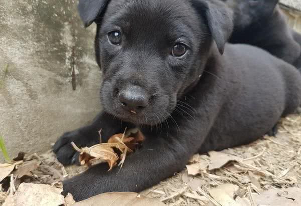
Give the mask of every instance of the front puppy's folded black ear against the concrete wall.
[[85, 27], [103, 14], [108, 3], [109, 0], [79, 0], [78, 11]]

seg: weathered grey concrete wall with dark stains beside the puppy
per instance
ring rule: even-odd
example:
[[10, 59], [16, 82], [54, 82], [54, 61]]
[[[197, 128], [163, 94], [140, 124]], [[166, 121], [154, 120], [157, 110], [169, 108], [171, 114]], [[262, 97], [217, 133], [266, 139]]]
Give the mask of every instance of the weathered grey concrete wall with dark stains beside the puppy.
[[11, 156], [49, 149], [100, 110], [95, 25], [83, 28], [76, 6], [76, 0], [0, 0], [0, 135]]

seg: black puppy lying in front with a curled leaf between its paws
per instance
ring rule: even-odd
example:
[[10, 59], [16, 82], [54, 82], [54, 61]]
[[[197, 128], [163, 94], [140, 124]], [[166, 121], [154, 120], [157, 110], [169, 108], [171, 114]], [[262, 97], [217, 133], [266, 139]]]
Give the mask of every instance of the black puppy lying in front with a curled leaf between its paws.
[[[251, 142], [301, 102], [291, 65], [249, 45], [226, 44], [232, 21], [218, 0], [80, 0], [86, 26], [97, 23], [104, 110], [65, 133], [54, 151], [63, 164], [78, 146], [139, 127], [141, 148], [122, 168], [100, 164], [63, 182], [76, 200], [141, 191], [185, 167], [196, 152]], [[224, 55], [221, 53], [224, 52]]]

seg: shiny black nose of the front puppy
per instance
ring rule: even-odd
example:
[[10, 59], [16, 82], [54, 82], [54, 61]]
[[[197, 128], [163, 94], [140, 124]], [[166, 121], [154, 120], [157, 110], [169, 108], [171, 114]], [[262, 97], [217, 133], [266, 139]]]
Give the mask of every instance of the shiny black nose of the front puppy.
[[148, 103], [144, 90], [138, 86], [131, 86], [121, 90], [118, 98], [121, 105], [133, 113], [145, 108]]

